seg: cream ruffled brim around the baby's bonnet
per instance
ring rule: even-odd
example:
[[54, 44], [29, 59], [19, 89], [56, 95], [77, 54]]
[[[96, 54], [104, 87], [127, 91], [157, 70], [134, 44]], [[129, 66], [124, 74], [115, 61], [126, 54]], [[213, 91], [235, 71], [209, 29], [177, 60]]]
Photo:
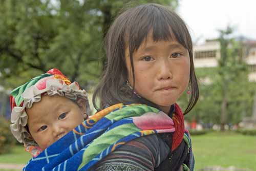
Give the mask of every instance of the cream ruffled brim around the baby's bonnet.
[[11, 132], [14, 137], [25, 145], [37, 145], [31, 139], [29, 132], [26, 129], [28, 123], [28, 115], [26, 108], [31, 108], [34, 102], [41, 100], [41, 94], [53, 96], [58, 94], [59, 96], [67, 97], [72, 100], [83, 98], [86, 101], [86, 112], [90, 115], [90, 105], [88, 101], [88, 94], [85, 90], [81, 90], [77, 82], [73, 82], [69, 85], [61, 79], [47, 79], [46, 87], [43, 90], [38, 90], [36, 85], [29, 87], [24, 91], [22, 97], [24, 99], [22, 106], [15, 106], [11, 113], [10, 125]]

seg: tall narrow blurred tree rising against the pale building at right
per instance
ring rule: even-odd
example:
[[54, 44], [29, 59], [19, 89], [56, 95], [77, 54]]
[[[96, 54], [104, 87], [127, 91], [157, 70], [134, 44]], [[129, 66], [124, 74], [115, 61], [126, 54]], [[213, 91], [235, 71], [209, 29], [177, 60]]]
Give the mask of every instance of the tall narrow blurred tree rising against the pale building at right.
[[[220, 46], [221, 46], [221, 58], [219, 59], [219, 82], [221, 92], [221, 131], [225, 130], [225, 124], [228, 123], [228, 111], [230, 108], [228, 105], [235, 103], [235, 105], [243, 106], [243, 102], [240, 101], [244, 96], [245, 82], [248, 82], [248, 73], [246, 72], [246, 65], [243, 63], [240, 49], [240, 44], [232, 37], [233, 28], [228, 26], [225, 30], [219, 30]], [[239, 83], [239, 86], [235, 86]], [[233, 99], [233, 98], [234, 99]], [[237, 103], [237, 104], [236, 104]], [[234, 107], [234, 106], [233, 106]], [[231, 110], [231, 108], [230, 108]], [[241, 111], [242, 112], [242, 111]], [[232, 116], [232, 115], [231, 115]], [[241, 115], [238, 115], [241, 118]], [[237, 117], [233, 117], [237, 118]]]

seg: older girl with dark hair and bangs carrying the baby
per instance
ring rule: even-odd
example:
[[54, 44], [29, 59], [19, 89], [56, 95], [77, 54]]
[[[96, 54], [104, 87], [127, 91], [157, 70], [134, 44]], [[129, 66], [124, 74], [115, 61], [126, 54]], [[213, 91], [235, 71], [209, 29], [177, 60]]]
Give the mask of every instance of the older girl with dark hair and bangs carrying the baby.
[[[106, 34], [105, 52], [106, 69], [93, 95], [97, 110], [120, 102], [144, 103], [162, 110], [174, 121], [177, 116], [182, 120], [175, 122], [176, 132], [173, 135], [157, 136], [172, 149], [166, 159], [160, 160], [160, 165], [154, 163], [154, 155], [146, 158], [146, 161], [143, 160], [145, 156], [137, 155], [143, 152], [148, 154], [146, 146], [150, 143], [144, 137], [124, 144], [95, 169], [153, 170], [142, 167], [150, 163], [155, 170], [178, 170], [182, 165], [183, 169], [193, 170], [193, 154], [189, 144], [183, 140], [174, 150], [175, 144], [172, 143], [179, 137], [177, 134], [183, 136], [184, 133], [184, 118], [176, 101], [187, 87], [191, 89], [188, 90], [191, 92], [188, 93], [190, 99], [184, 112], [187, 114], [199, 97], [192, 41], [183, 20], [175, 12], [157, 4], [128, 9], [114, 20]], [[96, 104], [97, 98], [100, 100], [99, 106]], [[159, 144], [153, 145], [154, 148], [161, 151]]]

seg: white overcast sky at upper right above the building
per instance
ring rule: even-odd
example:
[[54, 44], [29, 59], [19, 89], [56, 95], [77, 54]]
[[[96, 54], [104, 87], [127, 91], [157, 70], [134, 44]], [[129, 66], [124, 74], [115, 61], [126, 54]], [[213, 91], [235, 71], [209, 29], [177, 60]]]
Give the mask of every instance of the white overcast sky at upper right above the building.
[[216, 38], [228, 24], [236, 26], [236, 35], [256, 40], [255, 0], [180, 0], [178, 13], [194, 41]]

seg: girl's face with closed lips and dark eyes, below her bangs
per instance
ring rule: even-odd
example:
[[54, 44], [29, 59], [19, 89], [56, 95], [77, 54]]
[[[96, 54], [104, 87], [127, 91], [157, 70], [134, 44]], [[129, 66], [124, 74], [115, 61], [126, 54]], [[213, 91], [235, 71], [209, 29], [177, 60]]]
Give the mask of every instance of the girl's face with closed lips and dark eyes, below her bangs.
[[[133, 85], [129, 48], [125, 50], [128, 80]], [[188, 50], [178, 41], [155, 42], [149, 34], [133, 54], [135, 91], [168, 113], [189, 82]]]

